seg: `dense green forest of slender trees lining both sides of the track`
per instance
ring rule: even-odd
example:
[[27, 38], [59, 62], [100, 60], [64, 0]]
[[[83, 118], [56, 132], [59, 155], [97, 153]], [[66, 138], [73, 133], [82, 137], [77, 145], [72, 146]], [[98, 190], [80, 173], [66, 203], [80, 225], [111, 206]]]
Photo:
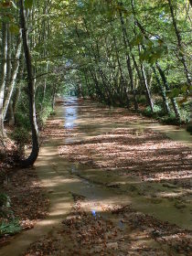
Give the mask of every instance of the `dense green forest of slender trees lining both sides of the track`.
[[0, 161], [11, 147], [16, 165], [34, 165], [63, 95], [192, 133], [191, 10], [191, 0], [1, 0]]

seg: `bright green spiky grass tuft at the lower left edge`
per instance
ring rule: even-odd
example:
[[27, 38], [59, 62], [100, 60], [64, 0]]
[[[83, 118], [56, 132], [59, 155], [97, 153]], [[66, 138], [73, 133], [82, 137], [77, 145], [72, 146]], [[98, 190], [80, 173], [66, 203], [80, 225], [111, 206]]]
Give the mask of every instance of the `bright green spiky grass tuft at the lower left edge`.
[[0, 237], [5, 235], [15, 235], [21, 231], [21, 226], [18, 219], [12, 219], [9, 221], [2, 221], [0, 223]]

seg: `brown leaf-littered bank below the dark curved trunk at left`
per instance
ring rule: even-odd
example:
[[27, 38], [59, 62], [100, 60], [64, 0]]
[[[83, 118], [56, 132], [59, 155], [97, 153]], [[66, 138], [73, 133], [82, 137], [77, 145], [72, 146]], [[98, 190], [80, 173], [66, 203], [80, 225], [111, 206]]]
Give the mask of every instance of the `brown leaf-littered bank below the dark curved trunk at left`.
[[[4, 185], [4, 192], [10, 197], [11, 208], [22, 229], [32, 229], [39, 219], [45, 219], [48, 213], [48, 198], [40, 187], [36, 170], [20, 169], [12, 173]], [[0, 246], [4, 245], [10, 236], [0, 239]]]

